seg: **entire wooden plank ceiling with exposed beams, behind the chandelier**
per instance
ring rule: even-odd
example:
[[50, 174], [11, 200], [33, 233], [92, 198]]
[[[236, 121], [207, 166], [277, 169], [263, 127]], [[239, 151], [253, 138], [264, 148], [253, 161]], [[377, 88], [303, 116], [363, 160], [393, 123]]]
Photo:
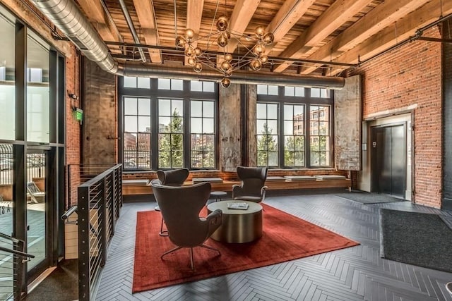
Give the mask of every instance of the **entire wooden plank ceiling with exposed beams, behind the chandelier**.
[[[142, 60], [119, 0], [76, 0], [100, 37], [120, 60]], [[237, 35], [272, 32], [266, 47], [275, 73], [338, 75], [347, 64], [365, 61], [416, 30], [452, 13], [452, 1], [439, 0], [124, 0], [146, 63], [186, 63], [174, 41], [186, 28], [197, 46], [222, 51], [214, 43], [215, 23], [226, 16]], [[109, 42], [115, 42], [112, 44]], [[231, 39], [227, 51], [244, 54], [254, 41]], [[331, 65], [330, 62], [344, 65]]]

